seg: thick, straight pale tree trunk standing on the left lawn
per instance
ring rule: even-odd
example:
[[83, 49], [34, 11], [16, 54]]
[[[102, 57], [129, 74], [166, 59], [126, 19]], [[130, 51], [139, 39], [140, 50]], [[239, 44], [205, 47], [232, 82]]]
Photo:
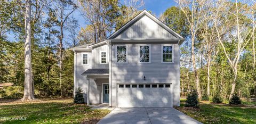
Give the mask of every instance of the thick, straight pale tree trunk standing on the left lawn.
[[34, 90], [32, 84], [32, 65], [31, 65], [31, 1], [26, 0], [26, 12], [25, 12], [25, 87], [24, 96], [22, 101], [34, 100]]

